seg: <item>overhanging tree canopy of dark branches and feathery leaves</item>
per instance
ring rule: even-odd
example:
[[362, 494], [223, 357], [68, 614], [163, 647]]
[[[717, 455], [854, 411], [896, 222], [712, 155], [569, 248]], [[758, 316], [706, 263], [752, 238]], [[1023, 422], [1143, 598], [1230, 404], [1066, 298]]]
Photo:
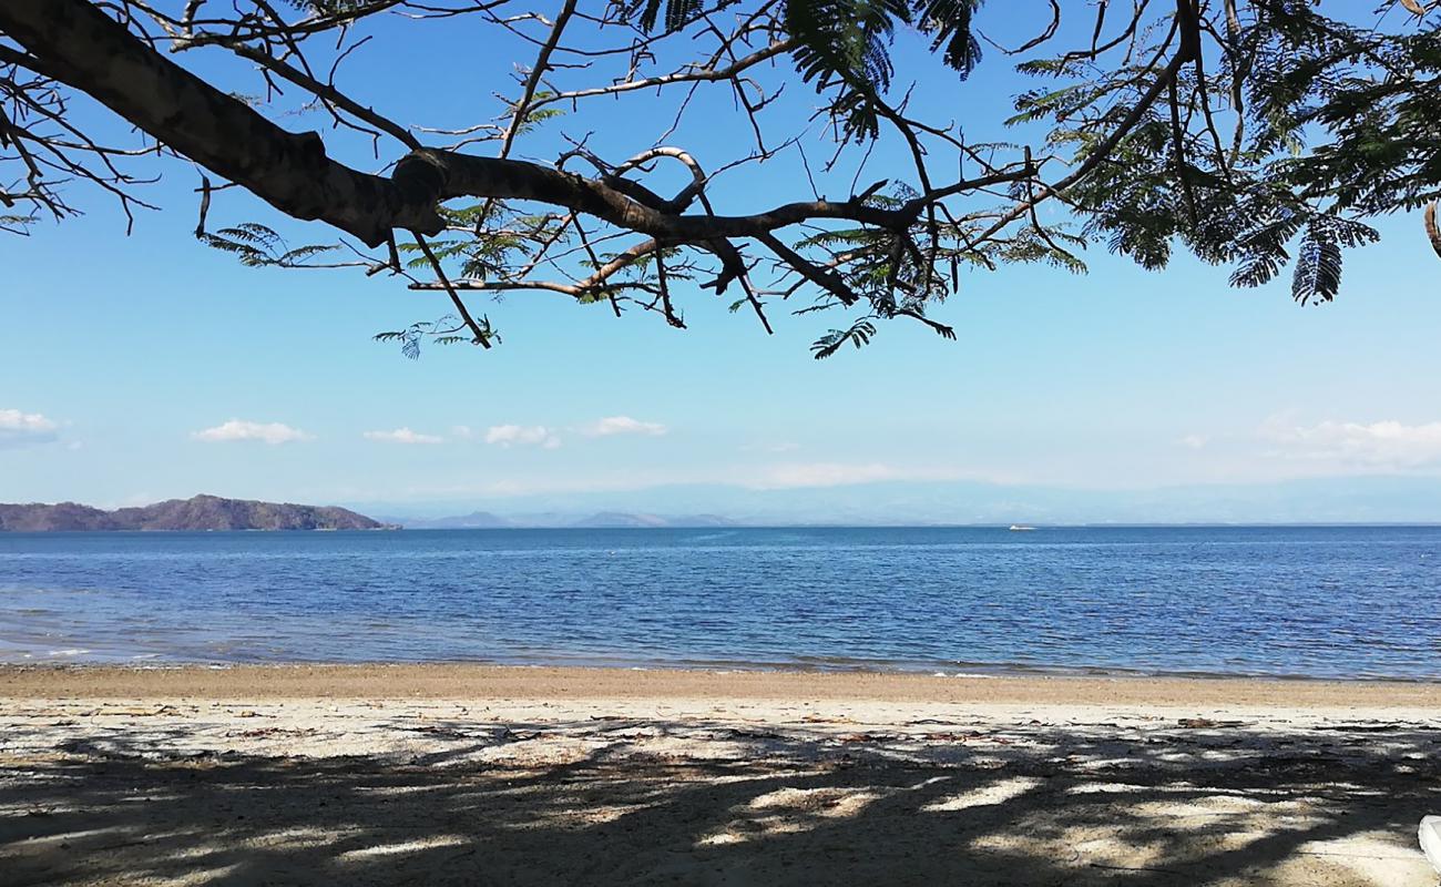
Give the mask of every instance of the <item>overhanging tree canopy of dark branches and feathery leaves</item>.
[[[1147, 268], [1189, 250], [1245, 287], [1290, 268], [1297, 301], [1326, 301], [1343, 251], [1378, 239], [1376, 216], [1425, 206], [1441, 254], [1437, 6], [4, 0], [0, 228], [75, 215], [88, 199], [78, 195], [97, 190], [130, 216], [150, 206], [148, 167], [183, 159], [200, 172], [196, 235], [245, 264], [357, 267], [447, 293], [452, 314], [379, 336], [411, 356], [427, 339], [490, 348], [499, 336], [473, 310], [476, 293], [520, 290], [654, 312], [674, 327], [696, 290], [754, 312], [767, 332], [774, 310], [843, 316], [817, 358], [892, 319], [954, 337], [928, 312], [964, 274], [1079, 271], [1091, 242]], [[514, 59], [499, 115], [427, 125], [346, 87], [356, 59], [424, 53], [437, 26], [473, 23], [532, 53]], [[1007, 43], [991, 23], [1032, 36]], [[1014, 65], [1035, 85], [1009, 120], [935, 118], [901, 76], [902, 45], [928, 48], [945, 71], [950, 82], [927, 75], [929, 95], [960, 95], [981, 63]], [[192, 65], [216, 55], [244, 65]], [[735, 108], [731, 136], [673, 141], [687, 114], [712, 112], [713, 94]], [[97, 134], [81, 97], [140, 143]], [[566, 131], [605, 100], [604, 138]], [[635, 125], [656, 108], [674, 115], [659, 137]], [[293, 131], [297, 110], [324, 115], [327, 136]], [[1001, 123], [1017, 138], [965, 134]], [[525, 156], [540, 133], [559, 149]], [[336, 159], [356, 134], [373, 144], [369, 164]], [[592, 147], [618, 136], [637, 141], [615, 156]], [[818, 141], [826, 154], [811, 160]], [[878, 146], [908, 162], [872, 169]], [[804, 164], [795, 193], [733, 185], [782, 157]], [[210, 226], [232, 187], [340, 239], [293, 247], [264, 219]], [[732, 206], [761, 193], [774, 199]]]

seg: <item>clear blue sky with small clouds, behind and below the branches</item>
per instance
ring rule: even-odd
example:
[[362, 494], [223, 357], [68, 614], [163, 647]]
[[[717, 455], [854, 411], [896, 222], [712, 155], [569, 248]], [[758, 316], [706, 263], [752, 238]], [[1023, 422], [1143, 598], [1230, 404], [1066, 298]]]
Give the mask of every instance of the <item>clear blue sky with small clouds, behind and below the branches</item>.
[[[419, 32], [424, 50], [362, 50], [342, 85], [406, 123], [497, 114], [491, 92], [527, 55], [478, 23]], [[402, 63], [421, 71], [392, 78]], [[918, 108], [958, 117], [974, 138], [1000, 134], [989, 121], [1020, 85], [999, 53], [967, 84], [928, 62], [901, 75], [924, 84]], [[793, 85], [787, 101], [780, 124], [814, 97]], [[594, 130], [594, 146], [628, 156], [669, 127], [667, 102], [582, 111], [519, 153], [553, 159], [559, 133]], [[739, 125], [728, 102], [700, 104], [667, 143], [718, 164], [745, 150]], [[378, 166], [367, 146], [326, 136], [333, 153]], [[902, 169], [898, 159], [882, 146], [867, 177]], [[0, 500], [114, 506], [203, 490], [424, 512], [584, 493], [588, 505], [611, 496], [666, 511], [705, 505], [679, 487], [775, 499], [976, 480], [1081, 495], [1441, 473], [1441, 264], [1414, 215], [1380, 222], [1382, 242], [1349, 255], [1342, 296], [1323, 307], [1295, 306], [1288, 280], [1232, 290], [1228, 270], [1186, 257], [1146, 273], [1091, 248], [1087, 275], [967, 275], [935, 310], [954, 343], [895, 323], [870, 348], [817, 362], [807, 346], [839, 319], [775, 313], [768, 337], [751, 314], [728, 313], [729, 300], [690, 291], [690, 329], [672, 330], [525, 293], [476, 303], [500, 348], [431, 348], [412, 362], [370, 336], [444, 313], [444, 294], [356, 271], [244, 268], [190, 237], [196, 173], [160, 169], [148, 196], [164, 211], [141, 212], [131, 237], [114, 206], [73, 193], [86, 216], [0, 239]], [[800, 175], [781, 157], [729, 175], [718, 200], [745, 211], [804, 198]], [[331, 238], [241, 195], [216, 199], [212, 225], [246, 219], [295, 242]], [[1147, 513], [1196, 516], [1180, 496]]]

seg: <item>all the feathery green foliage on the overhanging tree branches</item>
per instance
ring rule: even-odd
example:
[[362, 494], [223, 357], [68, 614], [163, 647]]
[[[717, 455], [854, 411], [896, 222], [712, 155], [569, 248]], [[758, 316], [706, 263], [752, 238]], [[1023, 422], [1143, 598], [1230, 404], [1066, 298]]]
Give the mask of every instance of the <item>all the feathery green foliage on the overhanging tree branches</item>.
[[[365, 6], [363, 0], [291, 3], [329, 16]], [[886, 124], [915, 140], [911, 146], [929, 157], [932, 179], [945, 169], [935, 157], [938, 147], [958, 149], [955, 159], [973, 179], [1017, 170], [1020, 157], [1027, 169], [1032, 160], [1038, 169], [1026, 173], [1033, 176], [1029, 180], [989, 176], [984, 189], [947, 189], [931, 203], [916, 200], [924, 195], [904, 183], [885, 192], [883, 185], [872, 186], [852, 200], [889, 212], [906, 208], [914, 221], [911, 215], [891, 225], [813, 218], [785, 232], [785, 250], [794, 250], [790, 255], [781, 248], [767, 254], [759, 238], [726, 239], [722, 245], [745, 268], [754, 271], [771, 260], [781, 281], [781, 288], [755, 290], [759, 297], [746, 290], [745, 299], [728, 300], [732, 312], [746, 306], [759, 312], [761, 301], [771, 306], [807, 293], [813, 301], [794, 313], [840, 309], [863, 314], [820, 337], [811, 346], [817, 359], [847, 343], [865, 346], [878, 323], [893, 317], [919, 320], [955, 337], [927, 309], [960, 290], [964, 268], [1040, 262], [1084, 273], [1082, 254], [1092, 242], [1150, 270], [1189, 251], [1229, 267], [1232, 284], [1241, 287], [1268, 284], [1288, 271], [1298, 303], [1323, 303], [1340, 293], [1346, 251], [1378, 239], [1369, 219], [1441, 198], [1441, 30], [1424, 22], [1382, 33], [1379, 25], [1327, 17], [1324, 12], [1336, 6], [1244, 0], [1233, 20], [1208, 16], [1199, 37], [1205, 49], [1196, 59], [1177, 55], [1182, 26], [1174, 4], [1148, 10], [1144, 3], [1120, 4], [1131, 7], [1137, 20], [1115, 42], [1087, 52], [1088, 20], [1084, 42], [1058, 37], [1052, 58], [1017, 65], [1040, 81], [1014, 98], [1014, 114], [1006, 121], [1025, 128], [1016, 140], [1027, 146], [1020, 154], [1020, 146], [974, 144], [958, 128], [909, 123], [902, 114], [914, 111], [901, 110], [904, 100], [896, 110], [885, 101], [895, 78], [893, 40], [904, 29], [927, 35], [932, 52], [964, 79], [980, 61], [973, 22], [980, 7], [981, 0], [777, 0], [768, 7], [774, 20], [754, 33], [791, 40], [795, 74], [821, 97], [821, 112], [834, 124], [842, 147], [878, 138]], [[623, 22], [651, 33], [699, 32], [706, 9], [718, 6], [702, 0], [614, 0], [610, 6]], [[1069, 10], [1095, 10], [1095, 4], [1068, 3], [1065, 9], [1074, 14]], [[1098, 37], [1102, 43], [1117, 32], [1114, 14], [1105, 29], [1095, 26], [1105, 35]], [[607, 23], [612, 22], [608, 16]], [[1029, 43], [1026, 52], [1036, 46], [1050, 52], [1046, 40]], [[651, 52], [650, 43], [644, 46], [637, 52]], [[553, 95], [543, 89], [535, 98]], [[514, 111], [512, 105], [512, 117]], [[530, 131], [561, 112], [552, 105], [532, 108], [519, 130]], [[644, 196], [638, 189], [650, 172], [650, 166], [625, 167], [617, 176], [637, 189], [631, 196]], [[935, 187], [954, 180], [944, 177]], [[614, 176], [601, 179], [617, 183]], [[1038, 193], [1058, 199], [1038, 211]], [[1063, 213], [1048, 212], [1061, 211], [1062, 203]], [[677, 284], [716, 280], [718, 262], [728, 273], [736, 267], [715, 248], [722, 241], [667, 241], [637, 257], [628, 252], [634, 239], [615, 237], [625, 225], [601, 232], [585, 216], [582, 229], [584, 213], [572, 226], [568, 211], [575, 206], [542, 213], [520, 206], [499, 199], [441, 206], [447, 229], [429, 247], [455, 275], [496, 288], [529, 283], [533, 270], [552, 262], [563, 281], [549, 288], [579, 303], [610, 304], [617, 314], [631, 309], [663, 313], [676, 326], [682, 325], [672, 304]], [[695, 206], [687, 212], [699, 215]], [[330, 248], [291, 250], [259, 225], [203, 238], [248, 265], [307, 267]], [[398, 250], [408, 270], [431, 271], [416, 244]], [[601, 268], [610, 268], [604, 280], [592, 278]], [[733, 274], [722, 278], [726, 283]], [[713, 284], [716, 290], [720, 283]], [[484, 330], [491, 335], [488, 320]], [[474, 340], [454, 317], [376, 339], [399, 342], [409, 358], [419, 355], [422, 343]]]

